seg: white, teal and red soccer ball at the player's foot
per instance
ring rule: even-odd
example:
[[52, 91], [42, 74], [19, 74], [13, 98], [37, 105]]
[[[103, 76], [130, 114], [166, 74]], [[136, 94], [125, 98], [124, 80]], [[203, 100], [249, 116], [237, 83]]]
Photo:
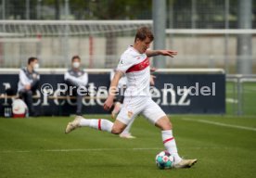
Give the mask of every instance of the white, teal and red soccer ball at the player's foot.
[[161, 151], [156, 157], [157, 166], [162, 169], [171, 169], [173, 167], [174, 158], [168, 151]]

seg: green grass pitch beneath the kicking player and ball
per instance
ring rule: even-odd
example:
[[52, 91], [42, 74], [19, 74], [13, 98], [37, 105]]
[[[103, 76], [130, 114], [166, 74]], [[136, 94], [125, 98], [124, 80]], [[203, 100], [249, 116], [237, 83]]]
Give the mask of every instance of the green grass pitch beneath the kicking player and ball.
[[[106, 118], [109, 116], [87, 116]], [[163, 146], [159, 129], [142, 117], [136, 139], [89, 128], [64, 134], [72, 118], [0, 119], [0, 177], [255, 177], [256, 131], [199, 122], [256, 127], [255, 118], [173, 116], [181, 156], [198, 159], [191, 169], [159, 170], [155, 156]]]

